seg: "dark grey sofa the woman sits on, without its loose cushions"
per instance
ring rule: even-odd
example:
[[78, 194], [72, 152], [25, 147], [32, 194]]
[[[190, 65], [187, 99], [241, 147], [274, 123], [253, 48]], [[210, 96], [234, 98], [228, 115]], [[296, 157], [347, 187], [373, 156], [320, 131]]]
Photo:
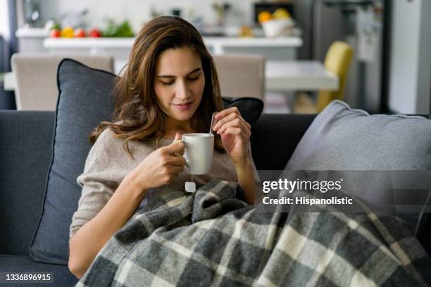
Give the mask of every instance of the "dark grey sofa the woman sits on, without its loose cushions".
[[[251, 139], [257, 169], [283, 170], [314, 117], [261, 115]], [[77, 278], [67, 266], [35, 262], [29, 255], [51, 162], [54, 121], [54, 111], [0, 110], [0, 272], [53, 272], [53, 286], [73, 286]], [[32, 285], [41, 286], [25, 284]]]

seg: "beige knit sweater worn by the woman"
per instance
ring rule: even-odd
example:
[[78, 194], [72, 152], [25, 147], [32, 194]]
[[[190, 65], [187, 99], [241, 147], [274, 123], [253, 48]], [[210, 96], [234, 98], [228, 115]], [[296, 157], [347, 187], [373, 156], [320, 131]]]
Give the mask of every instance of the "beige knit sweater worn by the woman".
[[[161, 139], [158, 145], [159, 147], [168, 146], [172, 141], [173, 139]], [[134, 152], [135, 160], [132, 160], [123, 148], [123, 140], [115, 138], [111, 129], [105, 129], [90, 149], [85, 161], [84, 172], [77, 177], [77, 183], [82, 186], [82, 193], [77, 211], [73, 214], [72, 224], [70, 224], [69, 238], [104, 208], [125, 176], [134, 170], [149, 153], [156, 150], [156, 141], [132, 141], [129, 142], [129, 146], [130, 150]], [[256, 167], [251, 158], [251, 149], [249, 158], [254, 167], [255, 180], [258, 181]], [[169, 191], [184, 191], [185, 181], [190, 181], [190, 177], [190, 174], [184, 171], [169, 185], [152, 189], [146, 193], [146, 196]], [[230, 156], [214, 150], [210, 172], [205, 175], [194, 175], [193, 181], [196, 182], [196, 188], [198, 188], [216, 177], [237, 181], [237, 174]]]

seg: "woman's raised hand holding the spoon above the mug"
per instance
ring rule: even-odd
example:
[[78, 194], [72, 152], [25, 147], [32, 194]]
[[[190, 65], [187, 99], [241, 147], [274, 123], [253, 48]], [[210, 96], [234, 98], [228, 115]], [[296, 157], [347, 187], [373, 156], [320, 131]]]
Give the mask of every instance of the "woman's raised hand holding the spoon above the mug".
[[220, 134], [225, 150], [236, 166], [248, 160], [250, 124], [246, 122], [237, 107], [227, 108], [215, 115], [218, 120], [213, 130]]

